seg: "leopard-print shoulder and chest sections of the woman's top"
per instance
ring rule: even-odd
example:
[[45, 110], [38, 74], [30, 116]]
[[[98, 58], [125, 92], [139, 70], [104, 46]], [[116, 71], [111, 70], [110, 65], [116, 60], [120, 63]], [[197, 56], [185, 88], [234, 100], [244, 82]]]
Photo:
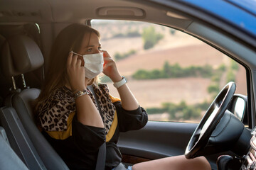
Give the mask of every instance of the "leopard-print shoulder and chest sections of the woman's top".
[[[100, 109], [102, 112], [105, 134], [107, 135], [114, 120], [116, 108], [111, 102], [110, 91], [107, 84], [98, 84], [98, 86], [93, 84], [92, 87], [97, 97], [100, 98], [98, 101], [100, 108], [97, 107], [97, 103], [91, 92], [89, 95], [97, 110], [99, 111]], [[74, 95], [70, 89], [63, 86], [56, 89], [54, 93], [38, 107], [39, 125], [46, 131], [65, 131], [68, 128], [68, 116], [75, 111]]]

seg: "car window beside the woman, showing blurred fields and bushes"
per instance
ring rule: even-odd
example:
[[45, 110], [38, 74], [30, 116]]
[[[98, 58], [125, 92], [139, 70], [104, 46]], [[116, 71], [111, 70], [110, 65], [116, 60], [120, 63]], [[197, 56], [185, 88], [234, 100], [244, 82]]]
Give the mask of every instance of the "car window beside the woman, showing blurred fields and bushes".
[[198, 123], [229, 81], [237, 84], [236, 94], [247, 94], [245, 68], [191, 35], [138, 21], [91, 23], [149, 120]]

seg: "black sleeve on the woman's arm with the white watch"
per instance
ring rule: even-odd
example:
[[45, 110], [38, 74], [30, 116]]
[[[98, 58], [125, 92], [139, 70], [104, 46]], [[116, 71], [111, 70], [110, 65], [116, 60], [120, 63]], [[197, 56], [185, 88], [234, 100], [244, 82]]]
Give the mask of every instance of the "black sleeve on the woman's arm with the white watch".
[[120, 132], [127, 132], [128, 130], [139, 130], [143, 128], [147, 121], [147, 113], [144, 108], [140, 107], [134, 111], [126, 111], [122, 108], [121, 101], [114, 103], [117, 109], [117, 118]]

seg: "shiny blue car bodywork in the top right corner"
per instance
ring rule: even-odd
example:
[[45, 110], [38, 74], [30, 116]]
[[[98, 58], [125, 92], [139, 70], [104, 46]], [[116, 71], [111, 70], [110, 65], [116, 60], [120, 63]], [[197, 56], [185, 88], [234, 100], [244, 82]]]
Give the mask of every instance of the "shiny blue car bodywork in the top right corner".
[[183, 1], [154, 1], [181, 11], [195, 20], [201, 20], [211, 26], [220, 28], [256, 47], [256, 1], [255, 0], [183, 0]]

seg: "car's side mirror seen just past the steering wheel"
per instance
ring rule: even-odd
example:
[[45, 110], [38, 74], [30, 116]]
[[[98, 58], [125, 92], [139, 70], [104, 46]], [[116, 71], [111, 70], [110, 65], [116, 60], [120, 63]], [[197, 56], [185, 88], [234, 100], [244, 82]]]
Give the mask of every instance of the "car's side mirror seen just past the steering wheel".
[[247, 96], [234, 94], [228, 110], [247, 125]]

